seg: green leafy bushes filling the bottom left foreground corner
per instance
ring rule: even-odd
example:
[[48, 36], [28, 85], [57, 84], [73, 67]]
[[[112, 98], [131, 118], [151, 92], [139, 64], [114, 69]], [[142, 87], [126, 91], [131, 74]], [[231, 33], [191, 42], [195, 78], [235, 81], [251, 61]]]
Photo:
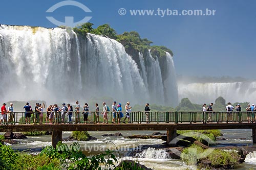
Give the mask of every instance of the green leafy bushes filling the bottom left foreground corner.
[[143, 169], [138, 167], [138, 163], [122, 161], [120, 166], [113, 151], [86, 157], [80, 150], [77, 142], [68, 147], [67, 144], [59, 142], [56, 149], [47, 146], [39, 155], [28, 155], [25, 153], [15, 153], [9, 146], [0, 144], [0, 169], [16, 170], [82, 170], [82, 169]]

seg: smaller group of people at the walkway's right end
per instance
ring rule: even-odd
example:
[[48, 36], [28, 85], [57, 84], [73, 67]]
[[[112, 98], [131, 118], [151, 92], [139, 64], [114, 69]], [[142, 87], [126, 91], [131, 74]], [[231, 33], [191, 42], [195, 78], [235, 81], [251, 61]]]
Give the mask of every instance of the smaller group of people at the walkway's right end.
[[[207, 123], [212, 122], [212, 114], [215, 114], [215, 111], [212, 110], [212, 106], [214, 106], [214, 103], [211, 103], [209, 106], [206, 106], [206, 104], [203, 104], [203, 113], [208, 113], [208, 119]], [[234, 108], [230, 102], [228, 102], [228, 105], [226, 106], [225, 110], [227, 111], [227, 122], [233, 122], [233, 112], [236, 111], [237, 113], [242, 111], [241, 105], [237, 104]], [[255, 112], [256, 112], [256, 106], [255, 104], [252, 104], [251, 106], [248, 104], [246, 108], [246, 114], [247, 114], [247, 122], [253, 123], [255, 122]], [[237, 120], [239, 119], [239, 114], [236, 114]], [[203, 121], [203, 120], [202, 120]], [[255, 122], [256, 123], [256, 122]]]

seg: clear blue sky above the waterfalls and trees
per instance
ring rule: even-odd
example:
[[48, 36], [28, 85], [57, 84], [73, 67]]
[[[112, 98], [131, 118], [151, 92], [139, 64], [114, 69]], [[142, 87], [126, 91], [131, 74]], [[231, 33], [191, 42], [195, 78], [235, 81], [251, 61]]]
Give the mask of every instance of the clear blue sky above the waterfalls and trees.
[[[95, 1], [77, 0], [92, 13], [65, 6], [46, 13], [55, 0], [1, 0], [0, 23], [56, 27], [46, 16], [75, 21], [92, 16], [95, 27], [109, 23], [118, 34], [137, 31], [154, 45], [165, 45], [174, 52], [178, 75], [231, 76], [254, 78], [256, 61], [256, 1], [254, 0], [181, 0], [181, 1]], [[126, 15], [118, 14], [120, 8]], [[215, 16], [131, 16], [129, 10], [216, 10]]]

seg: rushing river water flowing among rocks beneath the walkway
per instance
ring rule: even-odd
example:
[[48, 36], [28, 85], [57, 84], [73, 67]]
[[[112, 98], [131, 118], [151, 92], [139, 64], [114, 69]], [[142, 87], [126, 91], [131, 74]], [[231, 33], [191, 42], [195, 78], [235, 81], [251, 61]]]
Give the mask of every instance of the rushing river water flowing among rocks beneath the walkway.
[[[165, 131], [160, 131], [165, 133]], [[86, 155], [95, 155], [101, 153], [106, 149], [118, 149], [122, 159], [137, 160], [139, 163], [156, 170], [162, 169], [196, 169], [196, 167], [189, 167], [182, 160], [168, 158], [163, 149], [155, 149], [155, 146], [161, 146], [164, 141], [161, 139], [127, 139], [123, 136], [133, 134], [138, 135], [151, 135], [153, 131], [121, 131], [123, 136], [120, 137], [102, 137], [102, 134], [113, 134], [115, 131], [90, 131], [91, 136], [96, 137], [98, 140], [94, 141], [79, 141], [81, 150]], [[239, 130], [222, 130], [222, 137], [226, 140], [217, 141], [216, 147], [225, 146], [247, 146], [256, 147], [252, 144], [252, 132], [250, 129]], [[71, 132], [63, 132], [62, 137], [66, 138], [71, 135]], [[22, 143], [13, 144], [12, 148], [16, 150], [26, 150], [30, 153], [39, 153], [43, 147], [51, 144], [51, 135], [45, 136], [28, 136], [28, 139], [17, 139]], [[111, 141], [111, 142], [110, 142]], [[71, 141], [65, 142], [68, 145]], [[137, 154], [135, 157], [128, 157], [134, 148], [140, 149], [141, 145], [152, 145], [152, 148], [144, 149], [142, 153]], [[250, 153], [245, 159], [245, 163], [240, 164], [236, 169], [256, 169], [256, 152]]]

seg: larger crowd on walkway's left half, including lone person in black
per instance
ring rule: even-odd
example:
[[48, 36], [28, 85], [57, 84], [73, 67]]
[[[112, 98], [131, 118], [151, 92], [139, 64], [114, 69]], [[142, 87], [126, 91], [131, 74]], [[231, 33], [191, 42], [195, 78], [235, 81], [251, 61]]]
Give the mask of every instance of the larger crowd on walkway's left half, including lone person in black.
[[[119, 103], [117, 104], [116, 101], [113, 102], [111, 110], [109, 106], [106, 105], [105, 102], [102, 103], [103, 109], [102, 112], [99, 109], [98, 103], [95, 103], [95, 109], [93, 111], [89, 110], [89, 105], [87, 103], [84, 104], [83, 107], [80, 107], [79, 101], [76, 101], [75, 108], [71, 104], [62, 103], [62, 107], [59, 107], [57, 104], [54, 105], [49, 105], [44, 112], [44, 109], [46, 108], [45, 103], [36, 103], [34, 110], [32, 106], [29, 105], [27, 102], [26, 105], [23, 107], [25, 109], [25, 123], [30, 124], [31, 123], [31, 118], [33, 124], [39, 123], [40, 125], [43, 124], [43, 119], [44, 119], [44, 113], [46, 116], [46, 123], [45, 124], [52, 124], [52, 123], [80, 123], [81, 120], [81, 114], [83, 118], [83, 122], [85, 124], [89, 123], [90, 120], [88, 119], [89, 113], [91, 112], [94, 114], [94, 123], [99, 124], [100, 121], [100, 114], [103, 115], [103, 124], [108, 124], [109, 119], [108, 119], [108, 114], [112, 113], [113, 118], [112, 118], [112, 123], [115, 124], [120, 124], [120, 123], [131, 123], [130, 122], [130, 114], [132, 112], [132, 106], [130, 105], [130, 102], [126, 102], [124, 108], [125, 108], [125, 115], [122, 109], [122, 104]], [[149, 111], [150, 109], [150, 104], [146, 104], [145, 106], [145, 114], [146, 114], [146, 123], [150, 123], [150, 116], [149, 116]], [[80, 110], [82, 108], [82, 110]], [[81, 114], [80, 114], [81, 113]], [[72, 120], [72, 116], [74, 115], [74, 120]], [[6, 109], [6, 103], [3, 104], [1, 107], [1, 119], [0, 123], [7, 123], [7, 115], [8, 115], [8, 123], [9, 124], [14, 124], [14, 109], [13, 109], [13, 103], [10, 103], [10, 106], [8, 109]], [[66, 115], [68, 116], [68, 122], [65, 121]], [[124, 118], [123, 118], [124, 117]], [[123, 120], [122, 120], [123, 118]]]

